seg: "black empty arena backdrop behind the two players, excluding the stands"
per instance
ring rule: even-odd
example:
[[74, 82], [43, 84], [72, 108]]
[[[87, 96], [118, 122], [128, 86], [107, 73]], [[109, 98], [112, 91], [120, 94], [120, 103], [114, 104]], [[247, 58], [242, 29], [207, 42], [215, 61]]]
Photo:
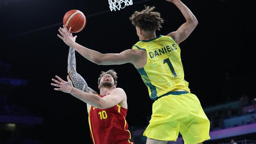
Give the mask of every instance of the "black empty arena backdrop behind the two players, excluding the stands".
[[[193, 33], [180, 44], [185, 79], [202, 107], [255, 97], [255, 10], [247, 0], [182, 0], [198, 19]], [[55, 75], [66, 79], [69, 47], [57, 37], [65, 13], [82, 11], [87, 18], [76, 42], [101, 53], [119, 53], [139, 41], [129, 17], [144, 5], [156, 6], [165, 20], [157, 35], [167, 35], [185, 22], [174, 4], [165, 0], [134, 0], [121, 11], [110, 11], [107, 0], [0, 0], [0, 60], [10, 65], [7, 77], [27, 79], [26, 87], [8, 93], [8, 101], [43, 117], [24, 137], [43, 143], [91, 143], [86, 104], [54, 91]], [[102, 12], [102, 13], [99, 13]], [[97, 14], [98, 13], [98, 14]], [[96, 14], [96, 15], [93, 15]], [[117, 86], [128, 97], [127, 121], [147, 126], [152, 103], [147, 87], [131, 64], [100, 66], [76, 53], [77, 71], [96, 90], [100, 71], [114, 69]]]

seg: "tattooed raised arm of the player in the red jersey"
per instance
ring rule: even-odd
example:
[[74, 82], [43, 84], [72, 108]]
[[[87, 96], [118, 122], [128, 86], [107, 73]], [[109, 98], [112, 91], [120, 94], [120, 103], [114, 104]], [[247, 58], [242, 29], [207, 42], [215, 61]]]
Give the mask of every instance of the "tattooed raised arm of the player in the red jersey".
[[79, 90], [82, 90], [83, 92], [87, 92], [91, 94], [98, 94], [93, 89], [88, 87], [83, 77], [76, 72], [76, 56], [75, 56], [75, 50], [72, 47], [69, 48], [68, 73], [76, 89], [79, 89]]

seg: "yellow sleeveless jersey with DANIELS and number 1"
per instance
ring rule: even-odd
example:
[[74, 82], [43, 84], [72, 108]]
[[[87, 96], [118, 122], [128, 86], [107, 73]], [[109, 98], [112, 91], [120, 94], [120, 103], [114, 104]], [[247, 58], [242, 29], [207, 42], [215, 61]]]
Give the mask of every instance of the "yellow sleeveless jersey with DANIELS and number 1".
[[147, 85], [152, 100], [176, 90], [190, 93], [188, 82], [184, 79], [180, 47], [172, 37], [159, 35], [151, 40], [142, 40], [132, 49], [147, 52], [146, 65], [136, 69]]

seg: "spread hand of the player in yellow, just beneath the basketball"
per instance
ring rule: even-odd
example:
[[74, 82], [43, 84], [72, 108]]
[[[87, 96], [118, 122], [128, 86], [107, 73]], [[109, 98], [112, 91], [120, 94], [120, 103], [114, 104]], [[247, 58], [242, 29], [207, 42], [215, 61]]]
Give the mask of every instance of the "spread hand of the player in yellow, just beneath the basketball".
[[76, 37], [72, 35], [71, 31], [71, 27], [69, 28], [69, 30], [67, 29], [66, 25], [63, 25], [63, 28], [59, 28], [59, 33], [61, 34], [61, 36], [58, 34], [58, 37], [60, 39], [62, 39], [65, 44], [67, 44], [68, 46], [71, 46], [71, 44], [75, 43], [76, 41]]

